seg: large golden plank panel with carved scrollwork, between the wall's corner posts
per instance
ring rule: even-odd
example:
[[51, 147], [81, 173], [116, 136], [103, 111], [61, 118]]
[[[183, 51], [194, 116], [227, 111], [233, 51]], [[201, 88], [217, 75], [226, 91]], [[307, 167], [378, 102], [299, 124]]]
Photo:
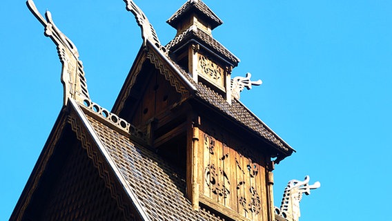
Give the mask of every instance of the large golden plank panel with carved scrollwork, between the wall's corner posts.
[[206, 129], [199, 134], [201, 198], [224, 206], [228, 209], [226, 215], [237, 213], [248, 220], [266, 220], [262, 155], [227, 132]]

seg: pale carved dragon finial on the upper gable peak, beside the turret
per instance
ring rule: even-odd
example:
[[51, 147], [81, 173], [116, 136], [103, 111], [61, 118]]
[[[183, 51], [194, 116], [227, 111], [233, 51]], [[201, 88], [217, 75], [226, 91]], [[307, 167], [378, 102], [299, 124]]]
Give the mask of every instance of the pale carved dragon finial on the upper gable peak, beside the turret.
[[135, 15], [137, 25], [141, 28], [141, 38], [143, 38], [144, 46], [146, 46], [147, 41], [150, 41], [157, 48], [166, 52], [166, 48], [159, 42], [157, 32], [155, 32], [153, 25], [148, 21], [144, 12], [132, 0], [124, 0], [124, 2], [126, 3], [126, 10]]

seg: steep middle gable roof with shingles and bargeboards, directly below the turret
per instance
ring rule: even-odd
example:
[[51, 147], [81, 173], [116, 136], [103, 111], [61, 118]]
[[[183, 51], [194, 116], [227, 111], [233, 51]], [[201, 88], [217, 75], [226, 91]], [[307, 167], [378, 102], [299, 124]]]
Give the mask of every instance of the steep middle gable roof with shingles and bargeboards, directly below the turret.
[[[142, 56], [148, 57], [150, 63], [160, 70], [162, 75], [165, 75], [166, 79], [170, 81], [170, 84], [172, 84], [178, 92], [188, 90], [189, 95], [197, 97], [223, 115], [230, 117], [235, 122], [242, 124], [260, 137], [263, 137], [267, 142], [273, 144], [278, 151], [282, 151], [284, 155], [291, 155], [294, 151], [291, 146], [284, 142], [284, 140], [282, 140], [282, 138], [273, 132], [271, 128], [262, 122], [261, 119], [249, 111], [242, 102], [239, 102], [237, 99], [233, 99], [232, 104], [229, 104], [219, 93], [201, 82], [196, 83], [193, 81], [192, 77], [190, 77], [190, 73], [186, 72], [184, 68], [176, 64], [175, 61], [168, 56], [168, 54], [162, 52], [153, 44], [147, 44], [147, 47], [147, 50], [143, 50], [141, 48], [135, 62], [144, 60], [141, 59]], [[144, 55], [145, 51], [147, 51], [147, 55]], [[130, 75], [128, 75], [126, 83], [123, 85], [123, 88], [121, 88], [115, 105], [112, 108], [113, 113], [119, 114], [121, 109], [124, 107], [124, 103], [129, 96], [130, 88], [133, 86], [130, 82], [135, 82], [135, 79], [133, 78], [135, 76], [137, 77], [137, 71], [140, 70], [138, 65], [140, 64], [133, 64], [133, 68], [130, 70]], [[179, 90], [179, 88], [182, 88], [182, 90]], [[282, 157], [284, 158], [285, 156]], [[277, 160], [277, 162], [279, 162], [279, 160]]]

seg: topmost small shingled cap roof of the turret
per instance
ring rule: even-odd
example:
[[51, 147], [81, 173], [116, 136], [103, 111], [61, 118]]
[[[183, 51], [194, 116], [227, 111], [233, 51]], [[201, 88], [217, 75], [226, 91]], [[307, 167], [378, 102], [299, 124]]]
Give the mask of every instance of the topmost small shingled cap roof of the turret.
[[202, 0], [188, 0], [184, 5], [177, 10], [166, 21], [173, 28], [177, 28], [177, 23], [182, 21], [184, 17], [190, 15], [190, 13], [195, 12], [197, 15], [204, 17], [208, 23], [210, 23], [211, 29], [216, 28], [217, 26], [222, 25], [223, 21], [215, 15], [215, 13], [206, 6], [206, 4]]

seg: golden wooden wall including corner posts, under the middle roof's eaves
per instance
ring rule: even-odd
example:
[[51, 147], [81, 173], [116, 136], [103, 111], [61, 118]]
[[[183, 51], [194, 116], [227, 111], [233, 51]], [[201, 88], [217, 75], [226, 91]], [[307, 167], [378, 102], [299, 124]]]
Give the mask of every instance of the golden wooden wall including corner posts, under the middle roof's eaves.
[[268, 153], [206, 118], [193, 128], [193, 136], [188, 148], [190, 200], [234, 220], [268, 220]]

